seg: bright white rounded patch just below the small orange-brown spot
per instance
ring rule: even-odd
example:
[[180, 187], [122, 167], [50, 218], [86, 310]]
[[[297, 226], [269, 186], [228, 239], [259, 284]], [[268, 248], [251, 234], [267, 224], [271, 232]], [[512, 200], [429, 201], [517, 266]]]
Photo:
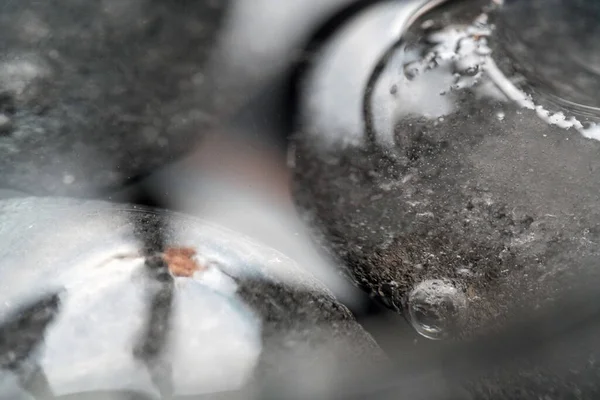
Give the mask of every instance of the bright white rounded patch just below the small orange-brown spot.
[[260, 321], [228, 297], [232, 282], [224, 282], [227, 277], [216, 270], [209, 274], [212, 288], [195, 279], [176, 279], [169, 358], [178, 395], [242, 386], [261, 352]]

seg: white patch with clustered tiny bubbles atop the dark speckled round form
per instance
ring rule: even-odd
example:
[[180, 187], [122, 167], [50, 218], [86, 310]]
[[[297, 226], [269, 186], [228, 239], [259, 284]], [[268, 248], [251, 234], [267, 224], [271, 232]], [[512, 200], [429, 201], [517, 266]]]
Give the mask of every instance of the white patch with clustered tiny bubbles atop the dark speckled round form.
[[478, 90], [485, 82], [491, 32], [487, 15], [482, 14], [470, 25], [425, 31], [421, 39], [402, 44], [387, 61], [381, 88], [376, 87], [371, 98], [378, 135], [393, 137], [393, 126], [401, 118], [436, 120], [455, 112], [456, 95]]

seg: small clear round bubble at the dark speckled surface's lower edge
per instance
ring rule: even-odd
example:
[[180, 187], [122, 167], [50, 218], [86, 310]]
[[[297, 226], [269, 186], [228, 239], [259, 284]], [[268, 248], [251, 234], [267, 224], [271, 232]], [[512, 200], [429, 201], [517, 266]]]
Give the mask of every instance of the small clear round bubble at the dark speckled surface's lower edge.
[[446, 279], [430, 279], [415, 286], [408, 297], [410, 322], [422, 336], [449, 336], [467, 308], [465, 295]]

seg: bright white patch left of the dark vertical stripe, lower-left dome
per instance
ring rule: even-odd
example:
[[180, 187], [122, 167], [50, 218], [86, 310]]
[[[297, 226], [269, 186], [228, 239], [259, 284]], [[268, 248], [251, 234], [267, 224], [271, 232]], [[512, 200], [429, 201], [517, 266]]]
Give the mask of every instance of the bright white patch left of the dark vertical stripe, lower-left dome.
[[147, 311], [143, 268], [141, 258], [115, 260], [64, 277], [62, 310], [41, 358], [56, 395], [152, 387], [132, 351]]

